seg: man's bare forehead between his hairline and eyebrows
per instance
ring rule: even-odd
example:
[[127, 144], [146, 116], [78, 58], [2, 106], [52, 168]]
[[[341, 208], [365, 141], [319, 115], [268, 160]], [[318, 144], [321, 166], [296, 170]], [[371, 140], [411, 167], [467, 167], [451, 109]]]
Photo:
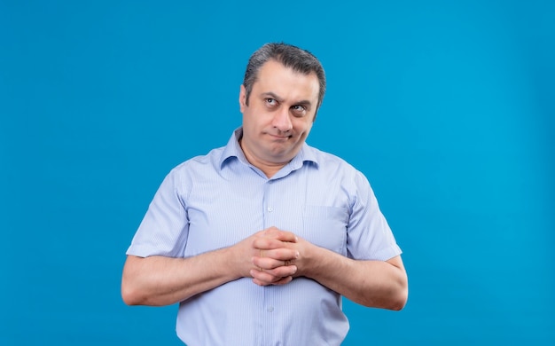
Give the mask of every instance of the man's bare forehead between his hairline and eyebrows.
[[283, 98], [302, 98], [315, 104], [319, 90], [315, 72], [304, 75], [272, 59], [262, 65], [253, 84], [255, 94], [272, 92]]

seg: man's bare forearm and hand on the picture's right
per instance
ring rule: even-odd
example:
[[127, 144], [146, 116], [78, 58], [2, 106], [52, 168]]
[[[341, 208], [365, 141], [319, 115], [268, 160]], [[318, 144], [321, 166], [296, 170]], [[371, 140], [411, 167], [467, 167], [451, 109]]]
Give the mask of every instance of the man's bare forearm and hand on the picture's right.
[[[408, 279], [401, 256], [388, 261], [353, 260], [301, 239], [290, 243], [289, 247], [300, 254], [291, 262], [298, 269], [294, 277], [315, 279], [349, 300], [368, 307], [401, 310], [407, 302]], [[269, 261], [257, 256], [253, 263], [258, 266]], [[264, 271], [253, 272], [253, 277], [259, 285], [269, 284], [270, 277]]]

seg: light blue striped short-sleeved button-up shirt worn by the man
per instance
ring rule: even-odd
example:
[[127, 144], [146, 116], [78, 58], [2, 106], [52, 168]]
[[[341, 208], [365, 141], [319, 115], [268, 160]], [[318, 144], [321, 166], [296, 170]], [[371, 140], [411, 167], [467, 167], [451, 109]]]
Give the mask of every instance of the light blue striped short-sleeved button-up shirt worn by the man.
[[[304, 144], [268, 178], [246, 161], [241, 134], [171, 170], [128, 255], [195, 256], [270, 226], [355, 259], [401, 254], [361, 172]], [[315, 280], [259, 287], [243, 278], [180, 303], [176, 332], [189, 346], [340, 345], [348, 319], [341, 296]]]

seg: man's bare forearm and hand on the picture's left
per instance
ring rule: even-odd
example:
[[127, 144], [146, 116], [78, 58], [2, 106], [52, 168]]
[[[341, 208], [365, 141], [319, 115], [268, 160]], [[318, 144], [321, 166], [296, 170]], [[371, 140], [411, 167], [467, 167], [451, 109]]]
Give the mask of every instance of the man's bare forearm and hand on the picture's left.
[[[291, 281], [297, 270], [294, 265], [283, 265], [293, 260], [297, 251], [284, 248], [284, 243], [295, 241], [291, 232], [270, 228], [229, 247], [188, 258], [164, 256], [128, 256], [121, 277], [121, 297], [129, 305], [169, 305], [184, 301], [192, 295], [223, 285], [235, 279], [251, 277], [261, 268], [254, 266], [254, 256], [260, 249], [254, 243], [265, 244], [266, 253], [279, 260], [276, 265], [265, 265], [273, 284]], [[277, 265], [279, 264], [279, 265]], [[270, 274], [271, 272], [271, 274]]]

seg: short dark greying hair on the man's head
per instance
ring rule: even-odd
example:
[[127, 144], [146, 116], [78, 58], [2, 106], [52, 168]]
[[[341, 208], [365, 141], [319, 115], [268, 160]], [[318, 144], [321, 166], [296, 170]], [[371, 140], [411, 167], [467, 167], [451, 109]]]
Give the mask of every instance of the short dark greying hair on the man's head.
[[285, 67], [290, 67], [295, 72], [300, 72], [303, 75], [309, 75], [314, 72], [320, 83], [320, 90], [318, 94], [317, 109], [322, 105], [325, 93], [325, 74], [324, 67], [320, 61], [311, 52], [303, 50], [286, 43], [266, 43], [257, 51], [254, 51], [251, 58], [248, 59], [246, 65], [245, 78], [243, 85], [246, 90], [246, 105], [248, 106], [248, 98], [251, 96], [254, 82], [258, 78], [258, 71], [260, 67], [274, 59], [283, 64]]

